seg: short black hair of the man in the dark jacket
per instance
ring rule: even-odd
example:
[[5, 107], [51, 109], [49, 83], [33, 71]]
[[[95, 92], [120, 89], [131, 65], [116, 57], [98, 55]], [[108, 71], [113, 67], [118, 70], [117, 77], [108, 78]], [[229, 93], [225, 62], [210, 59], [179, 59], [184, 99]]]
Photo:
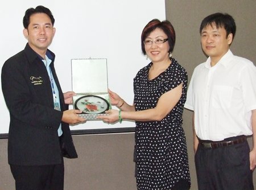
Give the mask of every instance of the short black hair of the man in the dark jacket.
[[30, 8], [30, 9], [26, 10], [26, 13], [25, 13], [25, 15], [23, 17], [23, 26], [24, 26], [24, 28], [27, 29], [28, 25], [30, 24], [30, 16], [34, 15], [36, 13], [47, 14], [49, 16], [49, 18], [51, 19], [52, 26], [53, 26], [53, 24], [55, 22], [55, 19], [53, 18], [52, 12], [48, 8], [39, 5], [35, 9], [34, 8]]

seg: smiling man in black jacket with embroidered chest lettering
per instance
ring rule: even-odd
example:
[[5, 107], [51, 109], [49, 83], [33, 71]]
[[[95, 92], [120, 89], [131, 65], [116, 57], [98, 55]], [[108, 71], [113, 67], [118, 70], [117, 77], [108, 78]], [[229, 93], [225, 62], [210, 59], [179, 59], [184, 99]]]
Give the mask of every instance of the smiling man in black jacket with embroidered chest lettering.
[[2, 91], [10, 111], [8, 160], [16, 189], [63, 189], [63, 156], [77, 158], [69, 124], [84, 122], [68, 110], [74, 92], [63, 93], [49, 51], [55, 34], [49, 9], [28, 9], [25, 49], [2, 68]]

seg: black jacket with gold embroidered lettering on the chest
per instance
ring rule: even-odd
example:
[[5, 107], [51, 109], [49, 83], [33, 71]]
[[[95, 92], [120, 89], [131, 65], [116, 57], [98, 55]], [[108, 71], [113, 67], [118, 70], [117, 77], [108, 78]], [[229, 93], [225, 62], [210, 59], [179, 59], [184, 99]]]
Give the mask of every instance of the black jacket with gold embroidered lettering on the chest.
[[9, 164], [42, 166], [60, 164], [57, 129], [62, 125], [65, 148], [70, 158], [77, 158], [68, 123], [61, 122], [68, 109], [54, 68], [51, 71], [60, 94], [61, 111], [53, 109], [51, 82], [46, 67], [27, 44], [23, 51], [10, 57], [2, 67], [2, 91], [10, 111], [8, 137]]

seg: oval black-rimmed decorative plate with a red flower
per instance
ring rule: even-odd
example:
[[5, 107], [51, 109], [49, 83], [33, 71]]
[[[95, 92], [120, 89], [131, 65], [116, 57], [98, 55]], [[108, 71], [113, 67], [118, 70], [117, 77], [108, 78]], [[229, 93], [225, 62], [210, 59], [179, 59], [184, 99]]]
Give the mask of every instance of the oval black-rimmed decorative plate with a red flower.
[[105, 113], [109, 109], [109, 102], [99, 96], [82, 96], [76, 100], [75, 108], [86, 114]]

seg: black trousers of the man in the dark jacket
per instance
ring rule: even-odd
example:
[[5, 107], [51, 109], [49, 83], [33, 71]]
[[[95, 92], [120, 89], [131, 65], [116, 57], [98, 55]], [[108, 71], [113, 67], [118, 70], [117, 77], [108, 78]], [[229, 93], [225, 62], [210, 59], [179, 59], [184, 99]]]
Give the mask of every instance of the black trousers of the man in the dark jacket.
[[16, 190], [63, 190], [64, 164], [47, 166], [10, 165]]

